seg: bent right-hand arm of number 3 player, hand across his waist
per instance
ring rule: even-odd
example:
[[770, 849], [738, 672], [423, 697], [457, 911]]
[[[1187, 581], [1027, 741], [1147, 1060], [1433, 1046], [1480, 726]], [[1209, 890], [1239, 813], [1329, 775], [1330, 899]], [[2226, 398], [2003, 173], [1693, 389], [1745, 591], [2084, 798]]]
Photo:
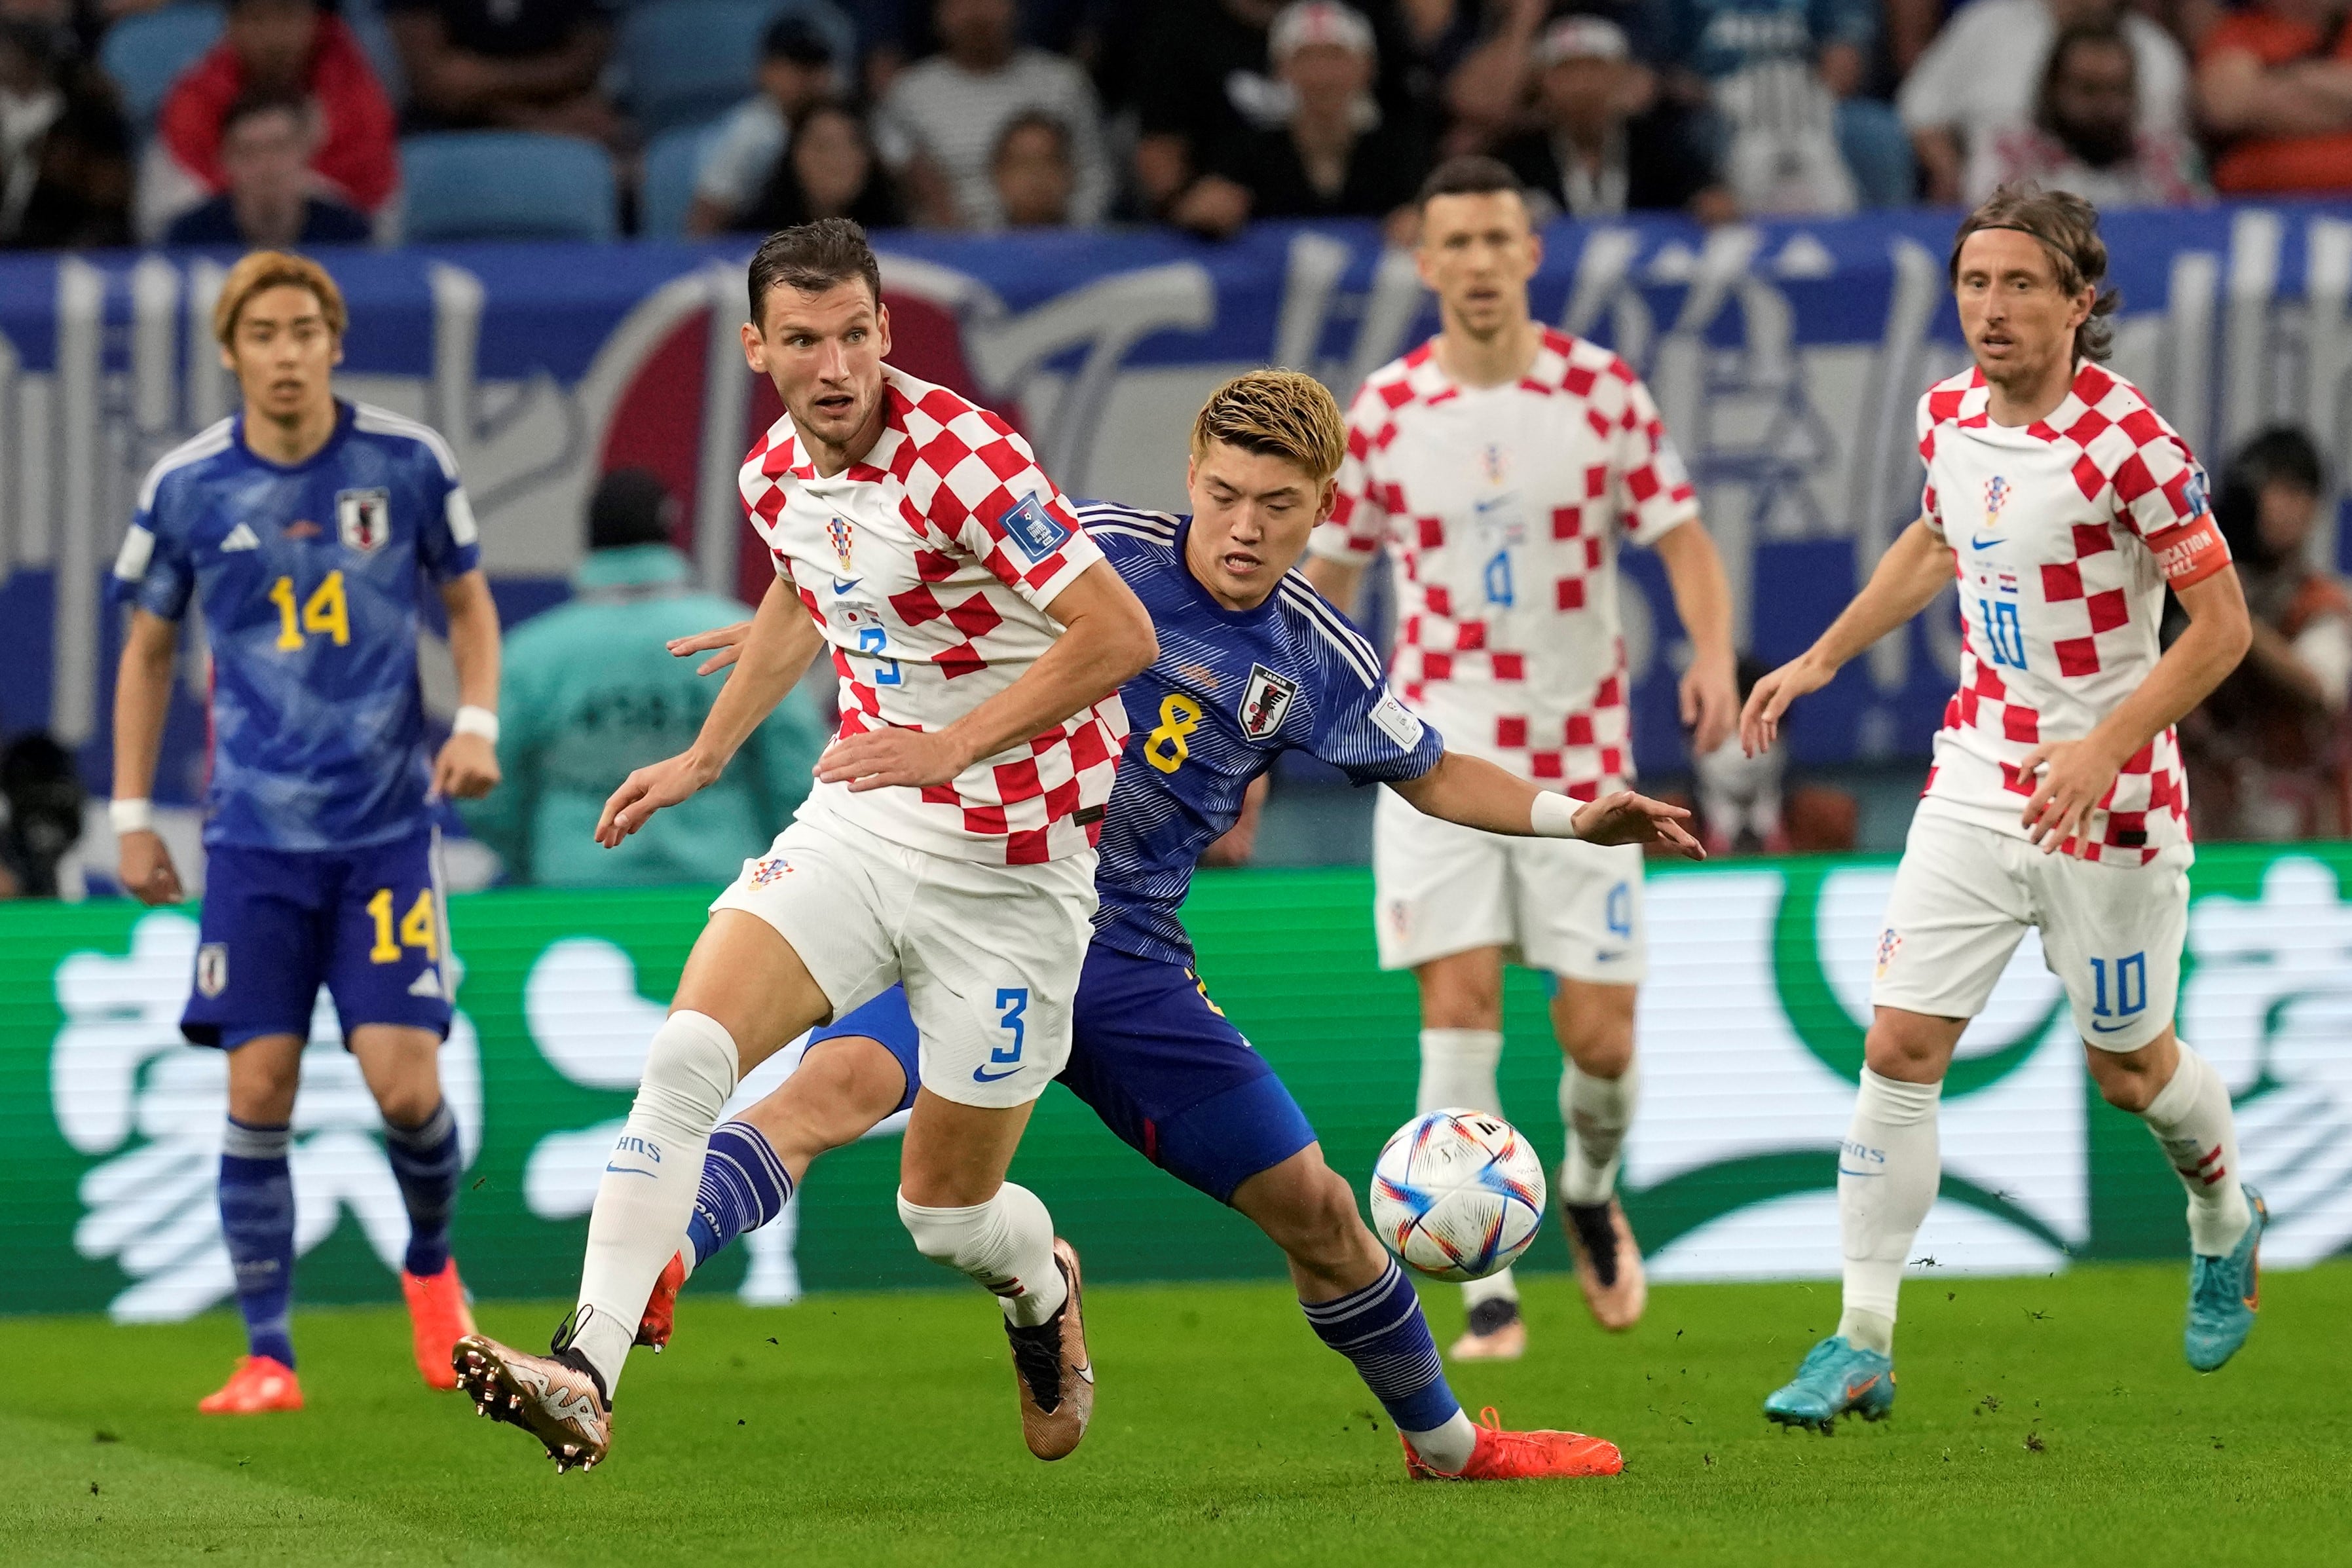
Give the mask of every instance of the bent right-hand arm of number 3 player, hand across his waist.
[[870, 729], [837, 741], [816, 759], [816, 776], [851, 790], [948, 783], [1101, 703], [1160, 658], [1150, 611], [1110, 562], [1080, 571], [1044, 611], [1063, 632], [1011, 686], [946, 729]]

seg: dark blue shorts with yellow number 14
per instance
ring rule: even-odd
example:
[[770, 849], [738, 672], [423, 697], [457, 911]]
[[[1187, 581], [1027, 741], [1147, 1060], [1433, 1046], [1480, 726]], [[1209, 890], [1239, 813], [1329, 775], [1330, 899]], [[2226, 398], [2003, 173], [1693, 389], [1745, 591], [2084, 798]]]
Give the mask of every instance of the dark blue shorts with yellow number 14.
[[318, 987], [343, 1039], [369, 1023], [449, 1037], [449, 914], [433, 830], [350, 851], [219, 844], [179, 1032], [235, 1051], [310, 1037]]

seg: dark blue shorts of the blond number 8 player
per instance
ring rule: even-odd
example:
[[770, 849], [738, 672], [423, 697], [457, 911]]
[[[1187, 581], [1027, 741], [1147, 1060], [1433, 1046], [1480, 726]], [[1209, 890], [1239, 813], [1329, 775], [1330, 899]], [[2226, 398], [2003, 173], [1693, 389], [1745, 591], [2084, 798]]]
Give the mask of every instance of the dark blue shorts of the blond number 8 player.
[[[891, 987], [809, 1037], [875, 1039], [906, 1072], [915, 1103], [917, 1037]], [[1061, 1084], [1143, 1159], [1218, 1204], [1258, 1171], [1315, 1143], [1305, 1112], [1183, 964], [1087, 950]]]

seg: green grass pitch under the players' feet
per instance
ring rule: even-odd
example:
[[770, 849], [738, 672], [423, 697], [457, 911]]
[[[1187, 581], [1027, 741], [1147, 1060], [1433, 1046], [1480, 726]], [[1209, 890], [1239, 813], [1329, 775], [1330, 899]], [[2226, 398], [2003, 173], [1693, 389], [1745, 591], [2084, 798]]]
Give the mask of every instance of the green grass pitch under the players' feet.
[[[1891, 1422], [1776, 1432], [1757, 1401], [1837, 1291], [1682, 1286], [1606, 1338], [1526, 1281], [1534, 1352], [1456, 1368], [1510, 1425], [1623, 1443], [1613, 1481], [1416, 1486], [1282, 1286], [1089, 1293], [1101, 1403], [1021, 1448], [993, 1302], [964, 1291], [696, 1300], [630, 1363], [616, 1448], [536, 1443], [430, 1394], [397, 1309], [296, 1316], [301, 1415], [200, 1418], [235, 1321], [7, 1324], [5, 1563], [2319, 1563], [2352, 1559], [2352, 1262], [2274, 1274], [2253, 1342], [2180, 1359], [2180, 1267], [1905, 1288]], [[1451, 1288], [1425, 1291], [1444, 1340]], [[536, 1345], [557, 1309], [489, 1305]]]

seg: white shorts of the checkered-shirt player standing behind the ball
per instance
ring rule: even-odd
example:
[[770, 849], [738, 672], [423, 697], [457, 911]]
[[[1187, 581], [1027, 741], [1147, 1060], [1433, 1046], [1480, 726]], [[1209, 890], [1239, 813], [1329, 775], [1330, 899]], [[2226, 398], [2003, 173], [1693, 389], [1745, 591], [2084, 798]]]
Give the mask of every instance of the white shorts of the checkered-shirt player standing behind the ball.
[[1649, 973], [1639, 844], [1479, 832], [1381, 790], [1371, 886], [1381, 969], [1503, 947], [1505, 961], [1569, 980], [1637, 985]]

